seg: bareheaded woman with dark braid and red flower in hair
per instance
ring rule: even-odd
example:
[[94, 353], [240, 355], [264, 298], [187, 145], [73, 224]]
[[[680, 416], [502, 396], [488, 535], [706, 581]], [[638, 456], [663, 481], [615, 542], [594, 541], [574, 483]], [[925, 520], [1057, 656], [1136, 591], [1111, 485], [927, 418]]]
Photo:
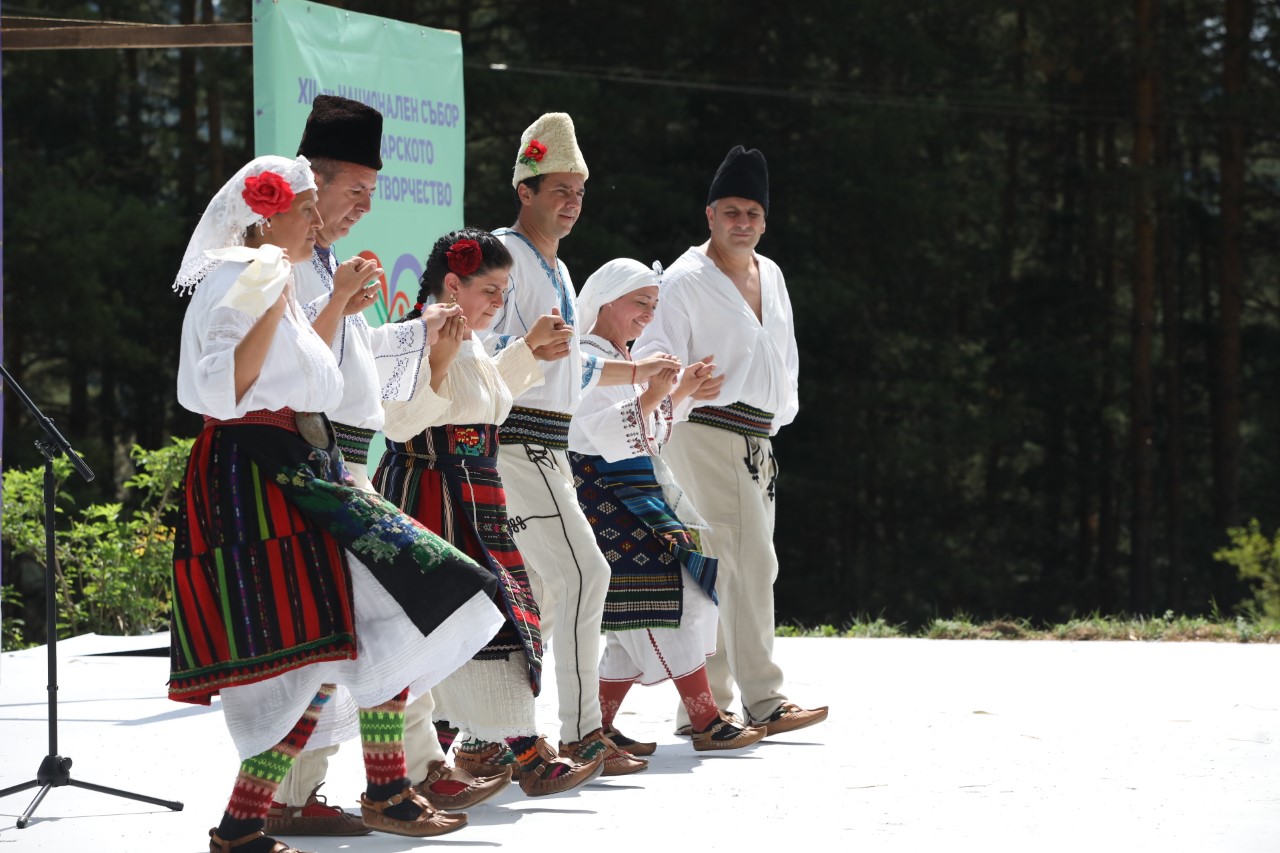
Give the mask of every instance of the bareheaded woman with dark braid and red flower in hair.
[[513, 394], [543, 383], [534, 350], [572, 334], [559, 316], [538, 318], [497, 356], [471, 333], [489, 327], [503, 305], [511, 254], [489, 232], [466, 228], [440, 237], [426, 259], [413, 320], [424, 304], [456, 302], [424, 359], [430, 386], [404, 402], [384, 401], [388, 450], [374, 487], [401, 510], [489, 569], [507, 621], [485, 648], [433, 690], [442, 729], [465, 729], [460, 767], [480, 775], [518, 772], [530, 797], [556, 794], [593, 779], [603, 757], [557, 758], [538, 736], [534, 697], [541, 686], [543, 640], [529, 575], [511, 538], [507, 498], [497, 469], [498, 424]]

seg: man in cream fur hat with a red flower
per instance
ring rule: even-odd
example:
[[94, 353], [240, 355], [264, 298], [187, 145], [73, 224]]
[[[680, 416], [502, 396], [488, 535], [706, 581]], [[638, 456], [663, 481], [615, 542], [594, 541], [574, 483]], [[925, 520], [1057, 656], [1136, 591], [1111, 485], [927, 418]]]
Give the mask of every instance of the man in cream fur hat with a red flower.
[[[516, 224], [493, 232], [515, 264], [507, 302], [485, 341], [490, 352], [522, 337], [544, 314], [558, 313], [567, 327], [573, 325], [573, 283], [558, 251], [582, 210], [586, 178], [573, 120], [566, 113], [548, 113], [525, 129], [511, 181], [520, 202]], [[567, 348], [567, 357], [543, 361], [544, 384], [517, 396], [499, 426], [498, 471], [541, 612], [543, 637], [549, 638], [556, 661], [561, 753], [576, 761], [604, 754], [604, 775], [631, 774], [648, 762], [609, 740], [600, 720], [598, 662], [609, 564], [577, 503], [566, 451], [570, 419], [588, 389], [644, 380], [672, 362], [666, 356], [630, 362], [586, 355], [577, 334], [554, 346]], [[458, 762], [465, 758], [466, 744], [458, 749]], [[476, 771], [476, 765], [468, 766]]]

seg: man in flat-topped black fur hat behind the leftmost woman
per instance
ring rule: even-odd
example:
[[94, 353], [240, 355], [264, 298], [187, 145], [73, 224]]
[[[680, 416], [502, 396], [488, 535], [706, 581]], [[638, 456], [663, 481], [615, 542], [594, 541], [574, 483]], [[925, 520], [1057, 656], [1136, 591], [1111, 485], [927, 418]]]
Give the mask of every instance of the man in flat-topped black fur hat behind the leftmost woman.
[[[366, 462], [369, 442], [383, 426], [383, 400], [408, 400], [419, 380], [429, 329], [457, 309], [444, 306], [421, 321], [369, 325], [360, 313], [372, 304], [381, 269], [355, 256], [339, 264], [334, 243], [372, 206], [383, 168], [383, 115], [358, 101], [320, 95], [311, 105], [298, 154], [316, 175], [317, 209], [324, 227], [310, 259], [297, 259], [298, 301], [321, 338], [332, 343], [343, 378], [342, 402], [329, 410], [343, 462], [356, 485], [372, 491]], [[431, 695], [406, 710], [406, 757], [410, 779], [436, 808], [460, 811], [503, 790], [507, 777], [475, 779], [449, 767], [431, 726]], [[361, 835], [360, 818], [328, 806], [316, 792], [324, 784], [337, 745], [303, 752], [280, 784], [268, 813], [268, 831], [280, 835]]]

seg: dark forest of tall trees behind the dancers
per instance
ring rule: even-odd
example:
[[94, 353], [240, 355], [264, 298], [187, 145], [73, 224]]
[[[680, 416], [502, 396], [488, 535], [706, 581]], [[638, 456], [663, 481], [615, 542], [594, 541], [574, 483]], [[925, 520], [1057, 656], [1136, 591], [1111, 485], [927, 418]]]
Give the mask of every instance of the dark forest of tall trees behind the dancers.
[[[247, 22], [250, 5], [4, 14]], [[1280, 525], [1280, 4], [330, 5], [461, 32], [468, 224], [512, 222], [521, 131], [573, 115], [591, 169], [562, 243], [579, 284], [703, 242], [724, 152], [765, 152], [760, 252], [801, 357], [776, 441], [780, 621], [1245, 599], [1213, 553], [1231, 526]], [[200, 428], [174, 400], [169, 286], [252, 155], [251, 51], [5, 51], [3, 74], [4, 364], [99, 473], [69, 497], [127, 501], [131, 447]], [[36, 435], [6, 397], [6, 471], [41, 462]]]

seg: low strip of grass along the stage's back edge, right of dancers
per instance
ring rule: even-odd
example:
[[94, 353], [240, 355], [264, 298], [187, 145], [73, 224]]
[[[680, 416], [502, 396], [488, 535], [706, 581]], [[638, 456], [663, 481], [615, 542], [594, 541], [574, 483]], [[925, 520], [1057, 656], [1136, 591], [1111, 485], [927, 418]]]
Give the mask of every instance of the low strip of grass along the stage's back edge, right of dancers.
[[1280, 620], [1256, 616], [1206, 617], [1178, 616], [1092, 616], [1070, 619], [1056, 625], [1037, 626], [1027, 619], [974, 621], [960, 615], [933, 619], [919, 629], [892, 624], [883, 617], [859, 616], [844, 626], [778, 625], [778, 637], [884, 638], [973, 640], [1124, 640], [1164, 643], [1280, 643]]

